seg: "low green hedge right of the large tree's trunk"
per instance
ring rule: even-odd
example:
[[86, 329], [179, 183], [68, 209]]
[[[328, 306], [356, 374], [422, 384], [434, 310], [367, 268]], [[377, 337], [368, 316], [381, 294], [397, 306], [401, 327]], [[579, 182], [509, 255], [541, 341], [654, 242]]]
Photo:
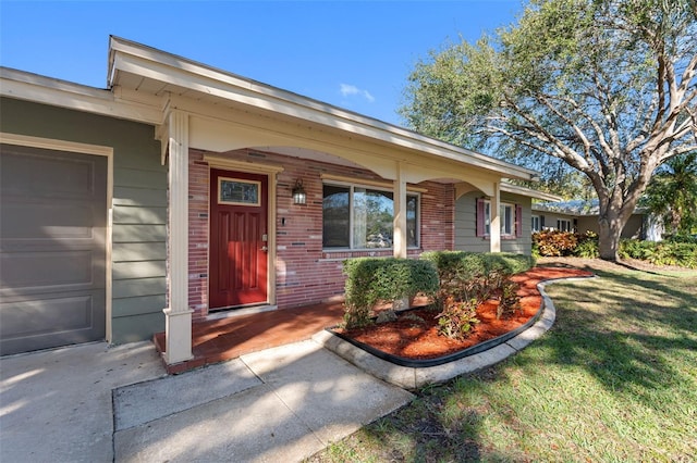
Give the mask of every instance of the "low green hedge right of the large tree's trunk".
[[617, 254], [620, 259], [638, 259], [655, 265], [697, 268], [697, 245], [690, 242], [623, 239]]

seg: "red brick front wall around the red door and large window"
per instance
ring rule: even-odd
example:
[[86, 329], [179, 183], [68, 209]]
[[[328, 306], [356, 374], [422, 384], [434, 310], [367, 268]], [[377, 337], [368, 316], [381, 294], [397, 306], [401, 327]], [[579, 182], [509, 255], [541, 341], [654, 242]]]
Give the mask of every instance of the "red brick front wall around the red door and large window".
[[[342, 295], [342, 261], [366, 255], [392, 255], [392, 250], [322, 250], [322, 174], [380, 180], [369, 171], [327, 164], [298, 158], [241, 150], [227, 153], [231, 160], [282, 165], [277, 175], [276, 196], [276, 298], [280, 309], [305, 305]], [[195, 316], [208, 314], [208, 209], [209, 166], [204, 153], [189, 152], [188, 184], [188, 304]], [[303, 180], [307, 203], [293, 204], [291, 190]], [[453, 249], [454, 188], [452, 185], [425, 182], [420, 193], [420, 248], [409, 249], [409, 256], [423, 251]]]

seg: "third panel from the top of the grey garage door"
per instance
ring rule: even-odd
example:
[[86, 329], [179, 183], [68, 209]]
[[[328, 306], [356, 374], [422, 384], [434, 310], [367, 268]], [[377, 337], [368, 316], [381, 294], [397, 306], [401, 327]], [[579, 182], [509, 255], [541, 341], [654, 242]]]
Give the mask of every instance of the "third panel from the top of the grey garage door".
[[63, 290], [103, 287], [105, 268], [93, 265], [97, 261], [91, 250], [3, 253], [0, 255], [0, 265], [4, 268], [0, 295], [9, 296], [7, 288], [16, 293], [22, 290], [49, 292], [54, 286], [62, 286]]

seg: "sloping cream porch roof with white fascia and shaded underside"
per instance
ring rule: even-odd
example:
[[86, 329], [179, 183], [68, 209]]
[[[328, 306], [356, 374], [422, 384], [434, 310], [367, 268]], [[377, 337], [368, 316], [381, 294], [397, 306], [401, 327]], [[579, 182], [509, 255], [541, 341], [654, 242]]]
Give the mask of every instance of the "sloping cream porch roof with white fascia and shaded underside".
[[356, 145], [369, 142], [465, 164], [499, 177], [526, 180], [537, 177], [535, 171], [113, 36], [108, 86], [121, 100], [156, 108], [179, 108], [213, 118], [231, 112], [244, 113], [351, 138]]

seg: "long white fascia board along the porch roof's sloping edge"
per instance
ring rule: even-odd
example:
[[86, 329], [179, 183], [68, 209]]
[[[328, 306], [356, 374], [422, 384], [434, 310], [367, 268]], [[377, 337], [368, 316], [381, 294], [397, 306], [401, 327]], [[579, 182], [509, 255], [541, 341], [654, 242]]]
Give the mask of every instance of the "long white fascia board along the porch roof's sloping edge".
[[537, 175], [536, 171], [529, 168], [118, 37], [111, 37], [110, 40], [109, 70], [110, 85], [117, 84], [119, 71], [130, 72], [204, 95], [494, 171], [502, 177], [529, 180]]

